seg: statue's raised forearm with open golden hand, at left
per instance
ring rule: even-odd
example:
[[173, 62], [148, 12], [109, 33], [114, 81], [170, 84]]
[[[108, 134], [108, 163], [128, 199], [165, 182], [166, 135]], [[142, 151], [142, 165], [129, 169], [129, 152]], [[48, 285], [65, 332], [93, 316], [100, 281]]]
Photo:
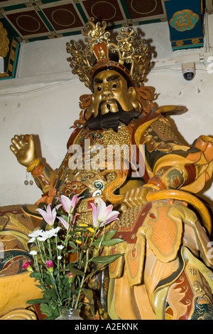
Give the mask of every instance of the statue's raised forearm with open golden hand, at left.
[[42, 190], [43, 194], [48, 192], [52, 169], [41, 162], [38, 157], [33, 136], [15, 135], [11, 142], [10, 149], [16, 155], [18, 162], [27, 168], [27, 172], [31, 172], [35, 184]]

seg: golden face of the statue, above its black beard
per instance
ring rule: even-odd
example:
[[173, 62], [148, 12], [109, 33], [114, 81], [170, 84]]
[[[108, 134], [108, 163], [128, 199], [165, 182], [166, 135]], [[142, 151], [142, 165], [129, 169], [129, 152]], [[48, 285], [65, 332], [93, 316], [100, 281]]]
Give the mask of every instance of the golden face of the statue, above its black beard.
[[128, 88], [124, 77], [114, 71], [102, 71], [94, 77], [94, 93], [92, 94], [92, 112], [97, 117], [99, 108], [102, 115], [119, 111], [116, 101], [124, 111], [138, 108], [136, 90]]

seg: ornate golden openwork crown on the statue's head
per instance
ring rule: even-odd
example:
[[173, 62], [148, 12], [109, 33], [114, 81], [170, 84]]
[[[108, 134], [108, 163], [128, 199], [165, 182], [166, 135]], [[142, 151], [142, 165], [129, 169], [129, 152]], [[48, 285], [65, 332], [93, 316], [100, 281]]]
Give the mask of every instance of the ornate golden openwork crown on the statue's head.
[[112, 43], [109, 31], [105, 31], [106, 22], [94, 24], [93, 21], [94, 18], [89, 19], [86, 28], [82, 30], [82, 35], [87, 36], [85, 51], [74, 40], [67, 43], [67, 53], [71, 55], [67, 61], [70, 62], [72, 73], [79, 75], [86, 87], [92, 90], [94, 73], [104, 68], [113, 68], [126, 75], [133, 85], [140, 87], [151, 59], [146, 40], [137, 41], [138, 33], [133, 28], [126, 31], [121, 27], [116, 37], [117, 44]]

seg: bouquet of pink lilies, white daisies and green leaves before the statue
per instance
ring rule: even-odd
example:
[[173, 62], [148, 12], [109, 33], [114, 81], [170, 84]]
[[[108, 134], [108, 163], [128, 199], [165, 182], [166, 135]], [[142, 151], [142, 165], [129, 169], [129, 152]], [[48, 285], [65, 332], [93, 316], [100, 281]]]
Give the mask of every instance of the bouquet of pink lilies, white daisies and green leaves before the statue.
[[79, 200], [77, 195], [72, 200], [62, 195], [55, 207], [48, 204], [45, 209], [37, 209], [48, 229], [29, 234], [33, 261], [24, 263], [23, 268], [31, 272], [43, 298], [28, 303], [40, 304], [45, 319], [56, 319], [62, 309], [81, 309], [85, 303], [95, 316], [93, 293], [87, 282], [100, 268], [123, 255], [101, 256], [104, 246], [124, 241], [113, 239], [116, 231], [105, 231], [107, 224], [118, 219], [119, 212], [99, 199], [97, 206], [91, 204], [93, 226], [76, 224], [75, 207]]

